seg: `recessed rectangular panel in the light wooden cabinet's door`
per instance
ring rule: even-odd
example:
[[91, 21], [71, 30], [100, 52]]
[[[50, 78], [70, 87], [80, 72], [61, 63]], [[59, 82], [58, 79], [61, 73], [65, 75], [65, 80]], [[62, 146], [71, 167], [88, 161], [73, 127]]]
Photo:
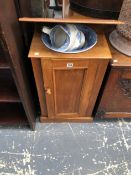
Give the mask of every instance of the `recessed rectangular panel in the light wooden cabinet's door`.
[[53, 73], [56, 112], [78, 113], [86, 69], [54, 70]]

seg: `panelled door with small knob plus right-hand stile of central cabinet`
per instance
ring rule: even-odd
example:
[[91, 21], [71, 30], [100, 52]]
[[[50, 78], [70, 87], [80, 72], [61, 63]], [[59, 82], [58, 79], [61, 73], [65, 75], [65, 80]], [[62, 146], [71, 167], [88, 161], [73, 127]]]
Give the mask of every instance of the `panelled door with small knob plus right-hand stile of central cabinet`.
[[42, 60], [49, 118], [92, 115], [107, 61], [72, 60]]

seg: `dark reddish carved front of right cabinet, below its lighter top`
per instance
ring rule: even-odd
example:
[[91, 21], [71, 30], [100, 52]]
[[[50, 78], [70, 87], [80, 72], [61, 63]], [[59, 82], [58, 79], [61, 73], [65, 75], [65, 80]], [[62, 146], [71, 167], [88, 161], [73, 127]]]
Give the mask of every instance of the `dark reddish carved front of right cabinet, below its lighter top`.
[[96, 117], [131, 117], [131, 70], [112, 68]]

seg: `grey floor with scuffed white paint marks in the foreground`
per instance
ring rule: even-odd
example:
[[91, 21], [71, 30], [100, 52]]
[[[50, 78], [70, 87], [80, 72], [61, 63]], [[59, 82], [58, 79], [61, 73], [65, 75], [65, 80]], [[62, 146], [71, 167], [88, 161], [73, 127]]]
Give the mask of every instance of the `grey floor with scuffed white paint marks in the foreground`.
[[0, 175], [131, 175], [131, 120], [0, 127]]

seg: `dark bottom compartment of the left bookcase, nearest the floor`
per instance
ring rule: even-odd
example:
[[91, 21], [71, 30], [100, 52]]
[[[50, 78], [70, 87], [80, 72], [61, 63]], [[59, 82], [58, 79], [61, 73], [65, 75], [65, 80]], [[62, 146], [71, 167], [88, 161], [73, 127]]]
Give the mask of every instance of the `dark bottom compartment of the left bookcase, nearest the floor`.
[[21, 103], [0, 104], [0, 125], [27, 124], [26, 114]]

